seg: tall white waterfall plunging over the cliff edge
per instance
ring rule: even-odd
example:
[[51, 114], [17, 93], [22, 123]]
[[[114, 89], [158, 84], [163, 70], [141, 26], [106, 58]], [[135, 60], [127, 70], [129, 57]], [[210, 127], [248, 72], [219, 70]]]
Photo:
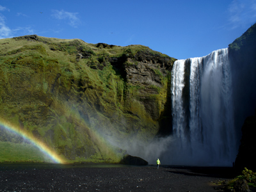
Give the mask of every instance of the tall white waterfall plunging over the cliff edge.
[[228, 49], [177, 60], [170, 164], [230, 166], [236, 158]]

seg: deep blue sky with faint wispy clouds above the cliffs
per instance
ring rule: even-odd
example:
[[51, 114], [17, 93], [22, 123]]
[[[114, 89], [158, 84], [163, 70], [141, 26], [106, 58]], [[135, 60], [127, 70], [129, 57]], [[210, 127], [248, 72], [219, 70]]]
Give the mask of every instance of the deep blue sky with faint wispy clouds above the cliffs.
[[177, 59], [226, 48], [255, 22], [256, 0], [0, 1], [0, 38], [141, 44]]

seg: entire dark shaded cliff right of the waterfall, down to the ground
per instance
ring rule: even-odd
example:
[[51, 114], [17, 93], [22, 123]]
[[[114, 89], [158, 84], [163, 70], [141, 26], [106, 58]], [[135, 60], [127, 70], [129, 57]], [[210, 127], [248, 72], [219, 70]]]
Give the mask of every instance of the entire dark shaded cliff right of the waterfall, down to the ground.
[[[242, 139], [236, 158], [236, 167], [255, 171], [255, 116], [256, 108], [256, 24], [228, 46], [234, 87], [234, 115], [237, 135]], [[250, 117], [248, 117], [250, 116]], [[244, 121], [245, 120], [245, 121]]]

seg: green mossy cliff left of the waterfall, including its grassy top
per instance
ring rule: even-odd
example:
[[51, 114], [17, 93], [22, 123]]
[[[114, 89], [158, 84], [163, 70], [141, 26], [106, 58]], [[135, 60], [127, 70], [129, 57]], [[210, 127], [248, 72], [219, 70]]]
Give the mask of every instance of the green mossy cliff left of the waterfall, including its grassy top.
[[[1, 120], [67, 162], [117, 163], [125, 151], [109, 141], [132, 136], [147, 142], [165, 129], [161, 122], [170, 121], [166, 106], [175, 59], [169, 56], [142, 45], [36, 35], [2, 39], [0, 45]], [[0, 146], [28, 144], [0, 130]], [[44, 161], [7, 153], [0, 161]]]

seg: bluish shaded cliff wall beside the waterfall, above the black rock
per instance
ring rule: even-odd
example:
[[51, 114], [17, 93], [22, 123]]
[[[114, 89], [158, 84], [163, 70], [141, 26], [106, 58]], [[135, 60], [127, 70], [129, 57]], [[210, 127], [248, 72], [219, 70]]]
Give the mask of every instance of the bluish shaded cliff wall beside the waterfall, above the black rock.
[[228, 45], [234, 87], [236, 125], [241, 130], [244, 119], [256, 107], [256, 24]]

